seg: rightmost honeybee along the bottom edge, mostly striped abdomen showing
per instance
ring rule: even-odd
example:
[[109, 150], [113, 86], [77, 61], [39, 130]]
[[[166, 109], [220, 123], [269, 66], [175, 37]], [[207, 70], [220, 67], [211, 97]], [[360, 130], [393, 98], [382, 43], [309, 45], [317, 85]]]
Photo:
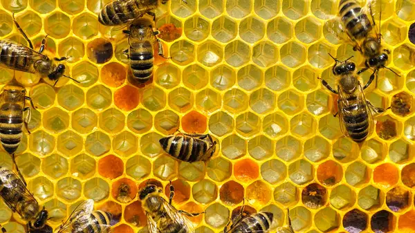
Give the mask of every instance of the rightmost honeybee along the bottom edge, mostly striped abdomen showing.
[[[243, 200], [245, 203], [245, 200]], [[224, 233], [240, 233], [240, 232], [252, 232], [252, 233], [264, 233], [273, 228], [274, 214], [271, 212], [258, 212], [255, 214], [249, 214], [244, 216], [243, 210], [245, 205], [242, 205], [239, 214], [228, 221], [228, 224], [223, 228]], [[232, 225], [230, 223], [232, 222]]]

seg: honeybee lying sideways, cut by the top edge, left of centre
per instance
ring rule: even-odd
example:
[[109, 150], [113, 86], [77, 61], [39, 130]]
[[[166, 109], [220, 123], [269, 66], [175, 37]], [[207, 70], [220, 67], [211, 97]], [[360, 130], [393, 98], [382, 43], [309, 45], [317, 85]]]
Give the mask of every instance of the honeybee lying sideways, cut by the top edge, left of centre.
[[[117, 26], [127, 24], [146, 13], [156, 17], [153, 12], [160, 4], [168, 0], [113, 0], [107, 3], [98, 15], [98, 21], [104, 26]], [[185, 0], [182, 0], [187, 3]]]

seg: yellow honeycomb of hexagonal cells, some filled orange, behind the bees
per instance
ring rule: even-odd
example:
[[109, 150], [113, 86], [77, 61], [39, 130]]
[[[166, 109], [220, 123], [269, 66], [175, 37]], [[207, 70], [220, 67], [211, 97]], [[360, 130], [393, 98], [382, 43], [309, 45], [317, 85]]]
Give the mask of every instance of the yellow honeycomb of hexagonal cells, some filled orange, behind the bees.
[[[328, 53], [363, 58], [324, 24], [335, 0], [181, 0], [156, 10], [168, 56], [156, 57], [154, 80], [129, 83], [127, 38], [101, 26], [108, 0], [1, 0], [1, 39], [27, 44], [12, 12], [46, 53], [69, 57], [55, 87], [28, 73], [0, 69], [0, 83], [24, 84], [37, 109], [17, 151], [28, 189], [57, 227], [76, 203], [92, 198], [111, 212], [116, 233], [147, 232], [136, 196], [147, 180], [189, 212], [197, 233], [220, 232], [243, 198], [250, 212], [267, 210], [295, 232], [415, 232], [415, 45], [408, 30], [415, 2], [382, 0], [382, 38], [394, 75], [383, 69], [376, 118], [361, 147], [340, 132]], [[360, 3], [364, 4], [363, 1]], [[412, 28], [412, 27], [411, 27]], [[362, 75], [366, 82], [370, 72]], [[219, 153], [210, 161], [178, 162], [158, 140], [176, 130], [211, 133]], [[0, 165], [12, 167], [8, 153]], [[0, 223], [24, 222], [0, 201]]]

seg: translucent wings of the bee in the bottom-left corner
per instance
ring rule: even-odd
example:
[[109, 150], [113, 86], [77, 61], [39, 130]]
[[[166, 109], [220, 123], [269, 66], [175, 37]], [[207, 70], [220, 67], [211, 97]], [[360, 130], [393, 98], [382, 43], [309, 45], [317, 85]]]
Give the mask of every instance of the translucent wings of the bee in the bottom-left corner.
[[[10, 170], [9, 170], [10, 171]], [[6, 200], [3, 198], [4, 203], [12, 209], [13, 212], [17, 212], [18, 214], [22, 214], [17, 210], [17, 204], [21, 201], [36, 201], [35, 197], [29, 192], [24, 185], [23, 181], [17, 176], [13, 171], [10, 171], [6, 176], [0, 176], [0, 182], [2, 183], [3, 189], [7, 188], [12, 190], [15, 194], [15, 199]]]

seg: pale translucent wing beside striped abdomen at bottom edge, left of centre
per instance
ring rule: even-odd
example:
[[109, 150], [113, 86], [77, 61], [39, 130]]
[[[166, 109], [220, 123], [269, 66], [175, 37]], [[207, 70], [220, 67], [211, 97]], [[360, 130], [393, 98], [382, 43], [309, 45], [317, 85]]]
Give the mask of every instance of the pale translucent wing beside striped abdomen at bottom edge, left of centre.
[[72, 233], [82, 232], [91, 221], [91, 213], [93, 212], [93, 200], [88, 199], [83, 201], [68, 217], [65, 223], [63, 223], [58, 233]]

